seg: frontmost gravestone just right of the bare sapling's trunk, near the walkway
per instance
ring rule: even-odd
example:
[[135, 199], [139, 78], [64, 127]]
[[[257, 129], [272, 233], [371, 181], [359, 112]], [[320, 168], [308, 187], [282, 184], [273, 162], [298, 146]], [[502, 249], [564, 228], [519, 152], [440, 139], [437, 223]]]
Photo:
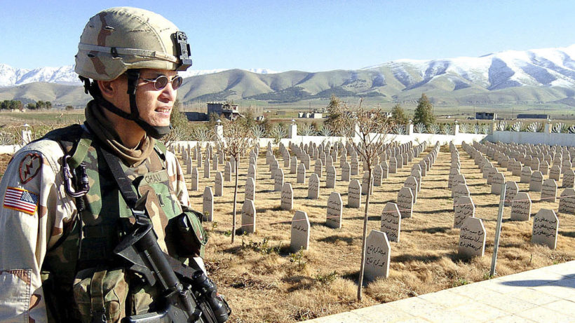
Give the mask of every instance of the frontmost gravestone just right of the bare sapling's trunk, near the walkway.
[[365, 278], [375, 280], [378, 277], [389, 277], [389, 262], [391, 246], [387, 235], [381, 231], [372, 230], [365, 239]]

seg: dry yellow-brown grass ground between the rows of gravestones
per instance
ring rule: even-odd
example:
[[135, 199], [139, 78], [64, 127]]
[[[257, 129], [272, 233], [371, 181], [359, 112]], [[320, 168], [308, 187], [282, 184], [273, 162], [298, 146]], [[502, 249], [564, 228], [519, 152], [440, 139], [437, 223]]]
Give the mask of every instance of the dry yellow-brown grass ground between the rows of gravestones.
[[[422, 179], [412, 217], [401, 221], [400, 242], [390, 242], [389, 277], [366, 281], [363, 301], [358, 303], [356, 293], [365, 195], [362, 195], [360, 209], [346, 206], [349, 182], [340, 180], [338, 159], [334, 162], [337, 166], [336, 187], [325, 188], [324, 170], [320, 178], [319, 199], [308, 199], [313, 161], [306, 172], [306, 182], [297, 184], [296, 174], [290, 174], [289, 167], [283, 167], [283, 158], [276, 147], [274, 152], [283, 168], [284, 180], [292, 184], [294, 191], [293, 209], [282, 210], [279, 207], [280, 192], [273, 191], [273, 179], [269, 166], [265, 164], [266, 149], [262, 148], [257, 160], [255, 184], [256, 232], [241, 235], [241, 229], [238, 229], [236, 242], [231, 245], [234, 174], [231, 181], [224, 181], [223, 196], [214, 198], [214, 221], [204, 222], [210, 236], [205, 262], [219, 291], [234, 310], [231, 322], [297, 322], [489, 279], [499, 196], [490, 193], [491, 186], [482, 178], [480, 169], [460, 146], [458, 149], [461, 174], [466, 177], [475, 202], [475, 217], [483, 220], [487, 231], [485, 256], [471, 260], [458, 256], [459, 229], [453, 228], [453, 200], [447, 188], [450, 154], [448, 147], [442, 146], [438, 160]], [[379, 230], [381, 211], [386, 202], [396, 201], [411, 166], [429, 151], [431, 147], [398, 169], [398, 173], [389, 174], [382, 186], [374, 187], [368, 232]], [[241, 228], [247, 167], [248, 158], [242, 158], [238, 179], [238, 228]], [[529, 184], [519, 183], [518, 176], [513, 176], [505, 168], [498, 168], [506, 180], [517, 181], [520, 191], [529, 191]], [[219, 170], [223, 172], [223, 169], [223, 165], [219, 165]], [[201, 170], [203, 167], [198, 173], [202, 174]], [[212, 171], [210, 179], [199, 177], [198, 191], [190, 192], [195, 209], [201, 209], [203, 188], [214, 186], [215, 171]], [[360, 163], [359, 174], [351, 179], [361, 181], [362, 177]], [[189, 181], [190, 175], [186, 175], [186, 179]], [[325, 225], [327, 198], [332, 191], [341, 194], [344, 205], [340, 229]], [[557, 210], [558, 200], [540, 202], [539, 192], [529, 192], [529, 195], [533, 201], [532, 216], [541, 208]], [[290, 251], [290, 222], [297, 210], [308, 214], [311, 234], [309, 250], [294, 253]], [[557, 213], [557, 217], [560, 221], [557, 249], [551, 250], [531, 243], [533, 219], [510, 221], [510, 207], [506, 207], [497, 275], [574, 260], [575, 217], [564, 213]]]

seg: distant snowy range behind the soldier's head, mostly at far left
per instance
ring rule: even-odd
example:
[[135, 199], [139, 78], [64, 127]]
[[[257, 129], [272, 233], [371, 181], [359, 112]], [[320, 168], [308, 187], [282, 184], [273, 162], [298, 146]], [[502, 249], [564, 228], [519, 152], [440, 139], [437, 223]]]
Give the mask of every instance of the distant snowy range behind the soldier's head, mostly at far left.
[[[188, 70], [180, 72], [184, 78], [203, 74], [212, 74], [226, 69]], [[257, 74], [274, 74], [270, 69], [248, 69]], [[64, 67], [40, 67], [37, 69], [17, 69], [0, 63], [0, 86], [22, 85], [32, 82], [59, 83], [65, 85], [81, 85], [74, 65]]]

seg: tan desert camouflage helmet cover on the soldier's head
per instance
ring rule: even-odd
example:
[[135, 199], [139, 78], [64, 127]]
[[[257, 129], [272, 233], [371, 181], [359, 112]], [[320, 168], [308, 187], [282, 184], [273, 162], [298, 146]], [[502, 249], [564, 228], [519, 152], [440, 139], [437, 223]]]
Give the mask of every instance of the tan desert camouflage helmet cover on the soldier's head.
[[140, 8], [109, 8], [90, 18], [80, 36], [76, 73], [111, 81], [128, 69], [185, 70], [191, 65], [186, 34]]

